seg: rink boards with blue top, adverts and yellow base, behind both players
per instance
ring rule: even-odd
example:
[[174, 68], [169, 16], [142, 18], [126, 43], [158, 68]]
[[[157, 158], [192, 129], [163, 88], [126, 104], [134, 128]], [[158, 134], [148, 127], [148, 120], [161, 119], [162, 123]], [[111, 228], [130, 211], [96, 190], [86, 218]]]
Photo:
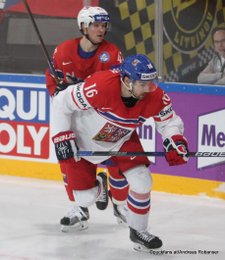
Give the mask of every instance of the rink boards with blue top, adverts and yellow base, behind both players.
[[[190, 151], [225, 152], [225, 87], [161, 83], [185, 123]], [[0, 173], [61, 180], [44, 76], [0, 74]], [[137, 129], [146, 151], [162, 151], [152, 119]], [[169, 167], [151, 157], [154, 190], [225, 199], [225, 158], [190, 158]]]

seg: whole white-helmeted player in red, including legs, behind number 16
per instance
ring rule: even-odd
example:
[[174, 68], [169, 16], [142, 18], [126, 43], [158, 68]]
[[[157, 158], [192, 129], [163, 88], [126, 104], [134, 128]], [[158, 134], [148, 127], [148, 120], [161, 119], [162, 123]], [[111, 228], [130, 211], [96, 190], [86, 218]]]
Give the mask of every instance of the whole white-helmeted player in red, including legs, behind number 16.
[[[46, 71], [46, 84], [51, 96], [54, 96], [59, 90], [66, 88], [71, 83], [79, 82], [96, 71], [110, 69], [123, 61], [123, 56], [118, 47], [104, 39], [107, 31], [110, 29], [110, 17], [106, 10], [96, 6], [84, 7], [77, 16], [77, 23], [82, 37], [67, 40], [57, 46], [54, 51], [53, 66], [61, 84], [57, 86], [51, 72], [49, 70]], [[60, 168], [68, 197], [73, 201], [72, 191], [66, 183], [69, 178], [66, 173], [67, 170], [64, 164], [61, 164]], [[118, 171], [118, 169], [112, 167], [111, 171]], [[102, 177], [106, 178], [104, 175]], [[119, 192], [115, 193], [119, 197], [121, 197], [119, 194], [121, 193], [125, 200], [127, 197], [127, 183], [124, 181], [123, 183], [123, 189], [120, 188]], [[123, 221], [126, 221], [119, 211], [123, 210], [123, 205], [119, 205], [117, 209], [117, 205], [114, 204], [114, 214], [119, 219], [122, 218]], [[97, 206], [100, 209], [104, 208], [104, 206], [102, 208], [100, 202], [97, 203]], [[74, 226], [85, 229], [87, 228], [88, 219], [88, 208], [73, 206], [60, 220], [61, 229], [62, 231], [67, 231]]]

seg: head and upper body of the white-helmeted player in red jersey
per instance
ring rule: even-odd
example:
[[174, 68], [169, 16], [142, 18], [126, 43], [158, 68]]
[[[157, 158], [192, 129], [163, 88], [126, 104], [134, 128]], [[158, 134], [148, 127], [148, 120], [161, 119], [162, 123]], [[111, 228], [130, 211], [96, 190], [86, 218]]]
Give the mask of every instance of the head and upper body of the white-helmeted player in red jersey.
[[[65, 84], [73, 83], [73, 79], [85, 79], [96, 71], [110, 69], [123, 61], [118, 47], [104, 39], [110, 28], [110, 17], [103, 8], [84, 7], [78, 14], [77, 23], [83, 36], [61, 43], [53, 54], [54, 68]], [[59, 86], [49, 70], [46, 80], [52, 96]]]

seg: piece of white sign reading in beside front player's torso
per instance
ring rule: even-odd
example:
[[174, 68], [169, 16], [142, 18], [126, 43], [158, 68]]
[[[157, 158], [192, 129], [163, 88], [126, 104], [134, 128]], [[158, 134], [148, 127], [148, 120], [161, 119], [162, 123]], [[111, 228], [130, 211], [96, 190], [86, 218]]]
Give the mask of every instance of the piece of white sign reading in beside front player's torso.
[[[153, 118], [149, 118], [145, 123], [137, 128], [138, 136], [141, 140], [141, 144], [145, 152], [155, 152], [156, 142], [155, 142], [155, 122]], [[148, 159], [155, 163], [155, 157], [149, 156]]]

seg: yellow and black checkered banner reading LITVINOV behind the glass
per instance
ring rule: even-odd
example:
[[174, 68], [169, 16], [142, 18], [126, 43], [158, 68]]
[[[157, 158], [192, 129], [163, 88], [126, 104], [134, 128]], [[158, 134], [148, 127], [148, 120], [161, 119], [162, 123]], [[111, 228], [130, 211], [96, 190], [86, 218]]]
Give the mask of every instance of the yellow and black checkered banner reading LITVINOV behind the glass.
[[[100, 1], [112, 17], [109, 39], [123, 54], [144, 53], [155, 61], [154, 0]], [[211, 31], [224, 26], [224, 0], [162, 0], [163, 76], [167, 81], [196, 82], [213, 55]]]

